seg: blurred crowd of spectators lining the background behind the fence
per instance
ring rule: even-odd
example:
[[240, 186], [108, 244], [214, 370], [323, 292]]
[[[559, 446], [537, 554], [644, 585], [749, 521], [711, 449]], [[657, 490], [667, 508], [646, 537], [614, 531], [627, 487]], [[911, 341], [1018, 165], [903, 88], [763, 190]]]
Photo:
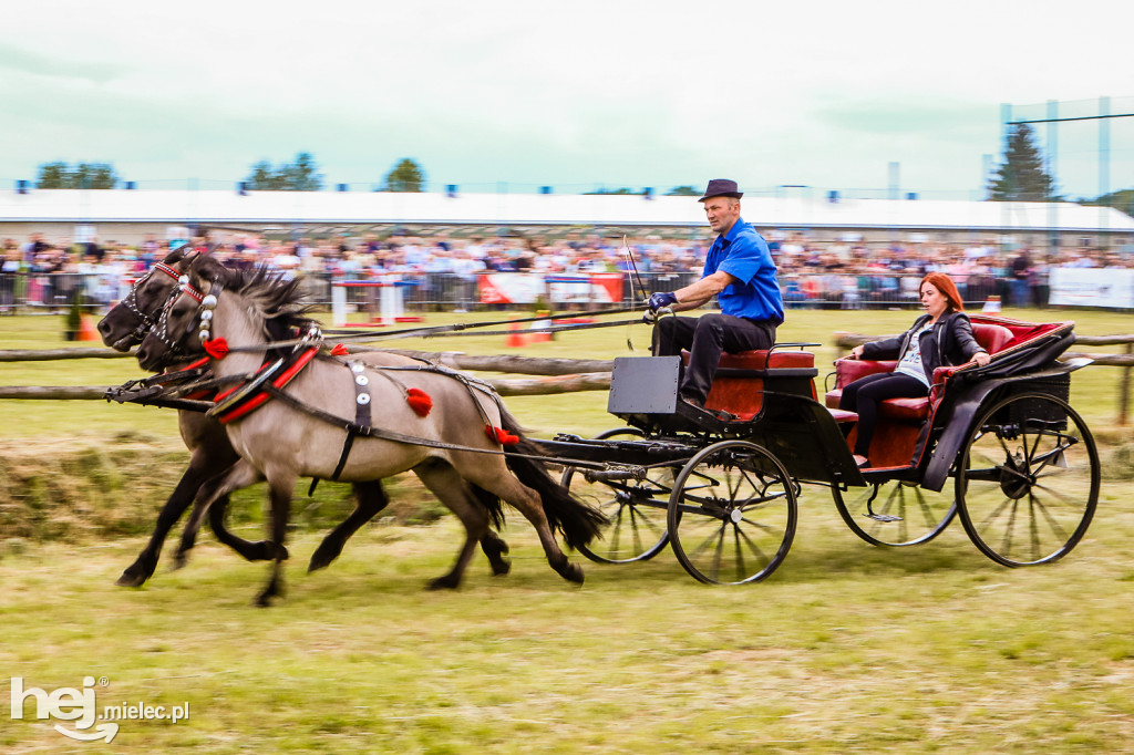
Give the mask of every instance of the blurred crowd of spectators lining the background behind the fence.
[[[853, 244], [816, 241], [801, 235], [768, 234], [789, 307], [857, 308], [872, 303], [916, 303], [917, 281], [943, 271], [966, 300], [997, 295], [1016, 306], [1047, 300], [1048, 271], [1055, 265], [1134, 266], [1129, 256], [1093, 249], [1061, 249], [1053, 255], [1030, 249], [1004, 251], [991, 241], [947, 244]], [[296, 275], [321, 279], [369, 279], [450, 275], [467, 285], [480, 272], [593, 273], [625, 271], [631, 263], [648, 279], [667, 273], [699, 273], [711, 243], [706, 236], [686, 239], [644, 236], [627, 238], [585, 232], [555, 236], [363, 236], [329, 239], [271, 240], [256, 234], [212, 232], [192, 239], [227, 264], [271, 264]], [[168, 252], [169, 243], [150, 236], [127, 245], [44, 239], [5, 239], [0, 247], [0, 308], [16, 303], [16, 278], [26, 283], [22, 300], [48, 307], [66, 306], [76, 291], [108, 305]], [[435, 278], [434, 278], [435, 279]]]

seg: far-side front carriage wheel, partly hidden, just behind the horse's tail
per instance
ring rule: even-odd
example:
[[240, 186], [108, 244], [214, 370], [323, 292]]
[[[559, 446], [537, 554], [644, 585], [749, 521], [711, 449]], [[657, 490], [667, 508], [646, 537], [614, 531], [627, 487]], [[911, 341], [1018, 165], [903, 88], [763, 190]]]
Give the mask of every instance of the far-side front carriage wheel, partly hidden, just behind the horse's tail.
[[[633, 427], [608, 430], [595, 440], [643, 438]], [[564, 470], [562, 485], [579, 500], [602, 511], [610, 526], [602, 540], [581, 545], [579, 552], [600, 563], [645, 561], [660, 553], [669, 543], [666, 531], [666, 502], [672, 490], [674, 470], [669, 467], [650, 469], [645, 480], [608, 480], [587, 482], [577, 467]]]

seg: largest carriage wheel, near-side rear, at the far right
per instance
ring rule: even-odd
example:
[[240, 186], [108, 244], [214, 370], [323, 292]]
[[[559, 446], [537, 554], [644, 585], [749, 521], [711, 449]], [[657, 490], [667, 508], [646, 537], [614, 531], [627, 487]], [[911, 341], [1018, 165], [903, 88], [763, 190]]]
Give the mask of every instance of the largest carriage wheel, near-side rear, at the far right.
[[1008, 567], [1066, 555], [1099, 501], [1094, 438], [1053, 396], [1012, 396], [985, 412], [957, 466], [956, 494], [968, 537]]

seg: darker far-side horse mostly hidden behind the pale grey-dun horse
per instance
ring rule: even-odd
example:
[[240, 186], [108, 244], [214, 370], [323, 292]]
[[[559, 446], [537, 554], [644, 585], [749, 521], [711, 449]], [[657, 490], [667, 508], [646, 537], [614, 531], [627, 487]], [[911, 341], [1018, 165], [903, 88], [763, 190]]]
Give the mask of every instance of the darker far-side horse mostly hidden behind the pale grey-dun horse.
[[[175, 249], [134, 282], [122, 300], [99, 321], [98, 329], [103, 343], [118, 351], [128, 351], [142, 341], [161, 315], [162, 307], [177, 292], [180, 277], [177, 266], [186, 260], [188, 252], [186, 247]], [[306, 323], [298, 324], [306, 326]], [[279, 330], [280, 337], [286, 336], [284, 328], [278, 328], [273, 323], [273, 329]], [[201, 354], [203, 355], [203, 351]], [[189, 466], [162, 506], [149, 543], [118, 578], [116, 584], [120, 586], [138, 587], [153, 576], [169, 531], [193, 502], [201, 486], [208, 480], [222, 474], [239, 459], [223, 425], [212, 417], [201, 412], [181, 409], [178, 410], [177, 418], [181, 440], [189, 450]], [[346, 541], [389, 503], [381, 482], [355, 483], [353, 489], [355, 509], [323, 538], [311, 557], [308, 572], [322, 569], [335, 561], [342, 552]], [[228, 495], [221, 497], [209, 508], [209, 524], [217, 540], [248, 561], [271, 559], [273, 551], [266, 541], [249, 542], [228, 531], [225, 524], [227, 508]], [[191, 519], [191, 526], [184, 529], [175, 557], [175, 568], [185, 566], [188, 552], [196, 541], [198, 524], [200, 518], [194, 517]], [[511, 566], [505, 558], [508, 544], [494, 532], [489, 531], [481, 546], [488, 557], [492, 574], [497, 576], [508, 574]]]

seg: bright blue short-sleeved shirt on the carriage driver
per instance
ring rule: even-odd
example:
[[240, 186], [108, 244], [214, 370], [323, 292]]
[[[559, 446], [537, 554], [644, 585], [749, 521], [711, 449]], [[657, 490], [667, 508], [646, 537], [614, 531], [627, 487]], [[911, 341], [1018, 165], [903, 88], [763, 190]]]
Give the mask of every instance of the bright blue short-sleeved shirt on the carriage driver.
[[784, 297], [768, 243], [743, 218], [737, 218], [728, 234], [718, 236], [709, 247], [702, 277], [718, 270], [736, 278], [735, 283], [717, 295], [721, 312], [748, 320], [770, 320], [777, 325], [784, 322]]

